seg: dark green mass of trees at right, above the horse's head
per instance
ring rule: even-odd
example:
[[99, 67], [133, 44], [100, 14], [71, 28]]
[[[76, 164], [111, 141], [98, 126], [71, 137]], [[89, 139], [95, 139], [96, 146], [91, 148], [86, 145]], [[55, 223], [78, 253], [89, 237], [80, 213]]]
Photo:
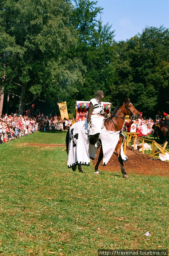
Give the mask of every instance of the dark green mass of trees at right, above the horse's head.
[[[168, 105], [169, 30], [146, 27], [142, 34], [118, 43], [113, 101], [129, 95], [135, 106], [152, 115]], [[165, 68], [164, 68], [165, 67]]]

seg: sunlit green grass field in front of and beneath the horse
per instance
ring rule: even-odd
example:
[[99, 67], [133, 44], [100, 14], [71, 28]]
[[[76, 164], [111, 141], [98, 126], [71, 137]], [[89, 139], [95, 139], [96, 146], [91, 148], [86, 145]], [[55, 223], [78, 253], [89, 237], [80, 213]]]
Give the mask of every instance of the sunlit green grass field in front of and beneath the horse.
[[[167, 249], [167, 177], [67, 169], [66, 132], [0, 145], [0, 255], [97, 255], [98, 249]], [[146, 237], [146, 232], [150, 236]]]

